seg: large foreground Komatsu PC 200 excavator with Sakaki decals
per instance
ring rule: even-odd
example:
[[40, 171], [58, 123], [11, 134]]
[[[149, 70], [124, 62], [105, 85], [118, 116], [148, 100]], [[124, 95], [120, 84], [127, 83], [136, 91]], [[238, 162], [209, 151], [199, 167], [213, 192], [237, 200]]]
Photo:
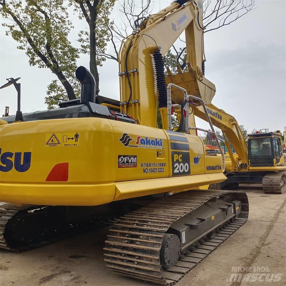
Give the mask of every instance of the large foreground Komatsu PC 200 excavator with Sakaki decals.
[[[208, 117], [205, 104], [215, 95], [202, 72], [201, 0], [175, 1], [140, 20], [120, 47], [120, 102], [96, 96], [81, 66], [79, 100], [26, 114], [18, 106], [0, 120], [1, 201], [8, 203], [0, 245], [29, 249], [119, 217], [105, 242], [107, 267], [172, 285], [246, 222], [249, 207], [245, 192], [207, 190], [226, 179], [224, 156], [206, 154], [189, 114], [195, 103]], [[166, 89], [162, 57], [184, 30], [188, 72]], [[19, 90], [13, 78], [5, 86], [12, 83]], [[171, 111], [179, 106], [175, 132]], [[185, 191], [170, 195], [176, 190]]]

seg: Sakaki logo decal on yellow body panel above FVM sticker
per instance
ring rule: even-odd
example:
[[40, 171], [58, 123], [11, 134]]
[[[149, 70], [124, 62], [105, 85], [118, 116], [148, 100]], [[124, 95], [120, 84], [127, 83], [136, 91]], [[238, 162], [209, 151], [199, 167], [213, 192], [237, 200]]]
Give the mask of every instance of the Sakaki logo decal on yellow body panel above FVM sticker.
[[165, 149], [163, 147], [163, 140], [161, 138], [149, 138], [137, 136], [135, 140], [136, 145], [130, 144], [133, 140], [127, 133], [123, 133], [121, 138], [118, 139], [125, 147], [138, 147], [138, 148], [152, 148], [152, 149]]

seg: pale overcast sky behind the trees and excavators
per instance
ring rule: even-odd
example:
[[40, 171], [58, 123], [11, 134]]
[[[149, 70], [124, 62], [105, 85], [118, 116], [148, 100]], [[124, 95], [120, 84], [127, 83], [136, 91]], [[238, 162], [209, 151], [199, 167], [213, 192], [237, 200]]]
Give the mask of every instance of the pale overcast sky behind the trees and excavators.
[[[155, 1], [154, 12], [171, 1]], [[249, 132], [253, 128], [284, 130], [286, 126], [286, 1], [256, 1], [256, 9], [231, 25], [205, 34], [206, 78], [216, 85], [213, 104], [233, 115]], [[116, 5], [115, 20], [120, 19]], [[1, 19], [1, 21], [3, 21]], [[86, 27], [84, 20], [74, 20], [76, 29]], [[9, 77], [21, 77], [22, 111], [45, 110], [47, 85], [55, 76], [49, 69], [30, 67], [24, 51], [5, 36], [0, 27], [0, 85]], [[83, 56], [78, 65], [89, 67]], [[118, 63], [106, 61], [100, 72], [100, 94], [119, 99]], [[0, 91], [0, 116], [5, 106], [10, 114], [17, 109], [13, 86]], [[198, 127], [207, 128], [202, 120]]]

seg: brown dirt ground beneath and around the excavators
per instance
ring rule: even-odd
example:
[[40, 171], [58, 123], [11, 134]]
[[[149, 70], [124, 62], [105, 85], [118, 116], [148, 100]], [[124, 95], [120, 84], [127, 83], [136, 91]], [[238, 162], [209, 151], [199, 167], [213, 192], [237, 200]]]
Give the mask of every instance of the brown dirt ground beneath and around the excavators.
[[[177, 286], [286, 285], [286, 192], [263, 194], [258, 184], [245, 184], [240, 189], [246, 190], [249, 197], [248, 222]], [[108, 229], [101, 229], [24, 253], [1, 251], [0, 283], [3, 286], [152, 285], [119, 276], [105, 267], [102, 249], [107, 232]], [[233, 274], [242, 274], [244, 281], [234, 281]]]

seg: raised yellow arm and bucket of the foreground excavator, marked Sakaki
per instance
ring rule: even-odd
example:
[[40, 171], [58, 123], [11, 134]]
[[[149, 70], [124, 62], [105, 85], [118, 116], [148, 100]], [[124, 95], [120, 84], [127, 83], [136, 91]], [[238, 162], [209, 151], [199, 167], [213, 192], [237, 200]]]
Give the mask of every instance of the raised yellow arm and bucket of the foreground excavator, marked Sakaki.
[[[138, 124], [156, 127], [159, 103], [166, 129], [167, 94], [162, 57], [183, 31], [188, 72], [170, 76], [168, 83], [185, 88], [188, 94], [202, 98], [207, 104], [215, 95], [215, 85], [202, 74], [202, 2], [174, 1], [137, 24], [119, 50], [120, 110], [134, 117]], [[183, 101], [180, 91], [172, 91], [173, 103]]]

